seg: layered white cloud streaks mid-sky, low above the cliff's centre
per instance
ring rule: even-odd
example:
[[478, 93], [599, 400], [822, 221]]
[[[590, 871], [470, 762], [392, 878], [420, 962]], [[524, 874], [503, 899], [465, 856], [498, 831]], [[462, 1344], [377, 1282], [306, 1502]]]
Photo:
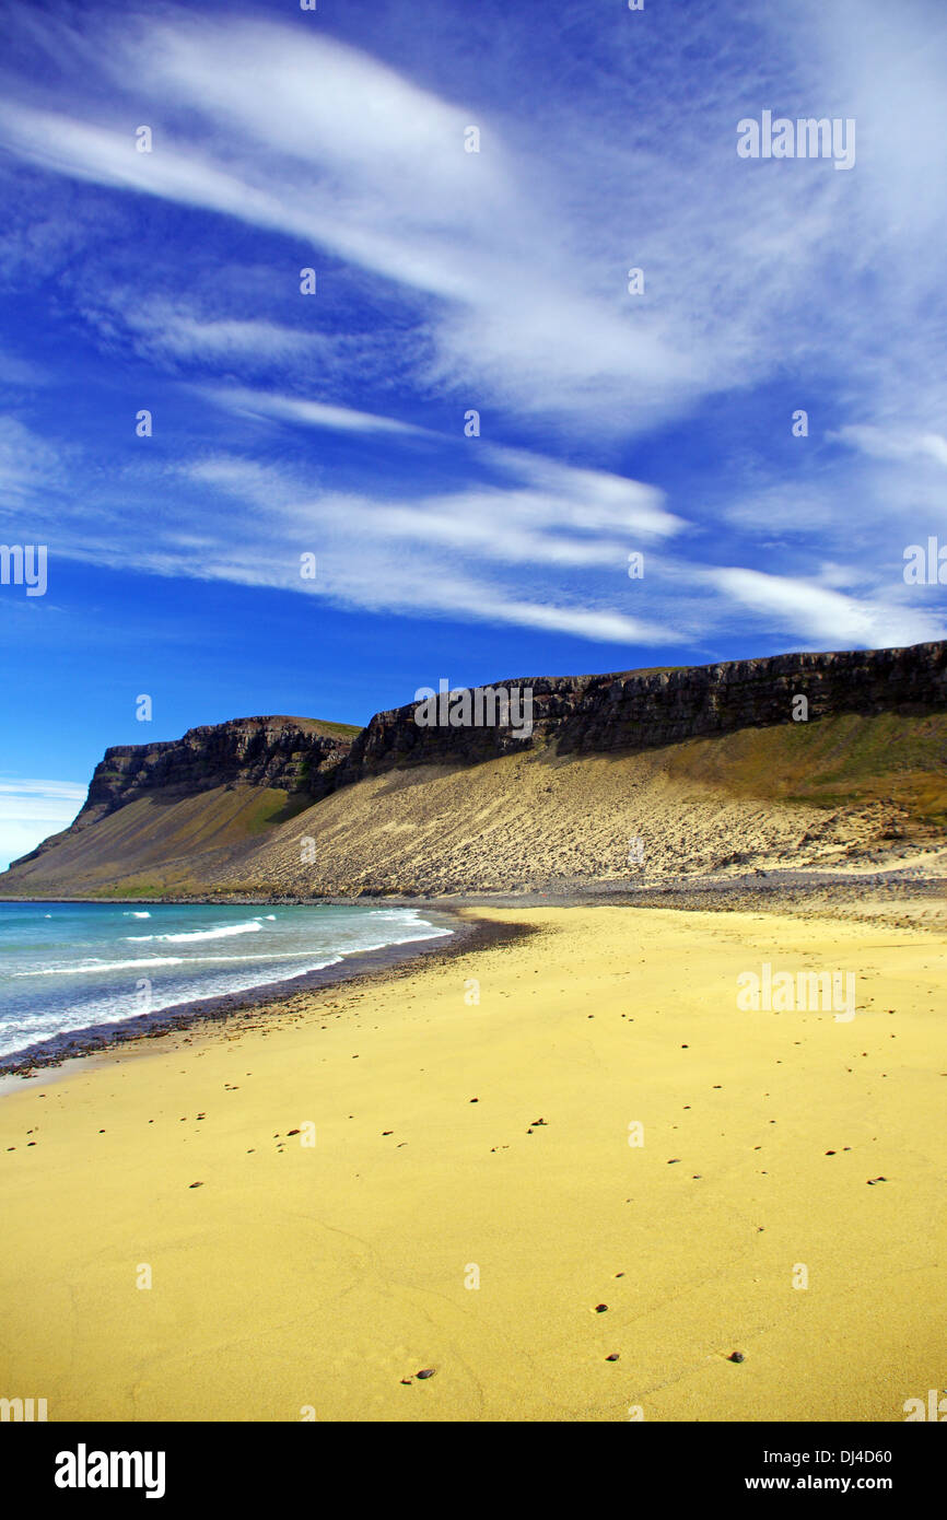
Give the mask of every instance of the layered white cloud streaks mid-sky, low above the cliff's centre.
[[[330, 426], [322, 413], [318, 426]], [[523, 450], [489, 448], [488, 458], [515, 471], [517, 488], [415, 492], [410, 500], [313, 494], [284, 470], [228, 456], [192, 462], [184, 473], [251, 508], [242, 518], [240, 555], [230, 547], [230, 532], [226, 543], [217, 541], [213, 575], [315, 591], [372, 611], [464, 614], [622, 641], [658, 643], [672, 635], [664, 619], [631, 616], [616, 605], [576, 605], [578, 587], [564, 600], [547, 579], [562, 567], [607, 567], [625, 576], [629, 547], [684, 526], [663, 509], [660, 492]], [[233, 526], [233, 514], [225, 520]], [[254, 523], [264, 524], [264, 534]], [[318, 558], [315, 584], [299, 578], [298, 556], [307, 550]], [[543, 591], [541, 602], [523, 594], [524, 575], [531, 588]], [[594, 591], [587, 596], [600, 600]]]

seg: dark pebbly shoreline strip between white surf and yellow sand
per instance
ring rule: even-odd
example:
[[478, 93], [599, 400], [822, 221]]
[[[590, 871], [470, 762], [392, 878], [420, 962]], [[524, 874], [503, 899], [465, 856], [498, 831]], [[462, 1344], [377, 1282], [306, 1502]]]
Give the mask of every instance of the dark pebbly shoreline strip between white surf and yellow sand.
[[[56, 898], [65, 901], [65, 898]], [[161, 898], [158, 901], [167, 901]], [[275, 904], [280, 906], [280, 904]], [[286, 906], [286, 904], [284, 904]], [[103, 1024], [85, 1024], [79, 1029], [68, 1029], [47, 1040], [24, 1046], [21, 1050], [11, 1050], [0, 1056], [0, 1097], [15, 1091], [20, 1082], [38, 1079], [41, 1072], [88, 1062], [90, 1058], [106, 1055], [120, 1046], [140, 1040], [158, 1040], [163, 1035], [178, 1034], [193, 1029], [196, 1024], [222, 1024], [230, 1018], [249, 1014], [257, 1009], [271, 1008], [274, 1014], [292, 1005], [295, 999], [331, 988], [336, 985], [360, 985], [386, 980], [392, 976], [407, 974], [416, 970], [427, 958], [450, 959], [497, 941], [517, 939], [527, 935], [527, 929], [517, 926], [491, 924], [486, 920], [461, 918], [459, 910], [426, 909], [433, 920], [433, 927], [441, 920], [451, 920], [450, 941], [445, 935], [427, 935], [418, 939], [400, 941], [383, 945], [378, 950], [357, 950], [344, 955], [331, 965], [304, 971], [301, 976], [287, 977], [284, 982], [261, 982], [258, 986], [248, 986], [239, 993], [220, 993], [210, 997], [192, 999], [184, 1003], [173, 1003], [150, 1014], [137, 1014], [132, 1018], [116, 1020]]]

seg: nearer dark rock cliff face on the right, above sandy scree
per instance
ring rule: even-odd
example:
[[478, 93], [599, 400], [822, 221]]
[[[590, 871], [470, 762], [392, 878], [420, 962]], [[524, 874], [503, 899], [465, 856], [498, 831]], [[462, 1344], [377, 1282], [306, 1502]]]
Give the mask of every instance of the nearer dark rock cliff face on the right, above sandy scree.
[[[375, 713], [350, 754], [318, 778], [316, 795], [397, 766], [477, 765], [550, 740], [559, 754], [608, 754], [787, 724], [797, 696], [806, 698], [809, 720], [941, 708], [947, 707], [947, 643], [774, 655], [654, 673], [523, 676], [497, 682], [494, 690], [500, 687], [532, 692], [531, 736], [515, 737], [514, 728], [496, 724], [453, 727], [453, 699], [445, 701], [445, 725], [421, 727], [412, 702]], [[512, 717], [521, 717], [515, 702]]]

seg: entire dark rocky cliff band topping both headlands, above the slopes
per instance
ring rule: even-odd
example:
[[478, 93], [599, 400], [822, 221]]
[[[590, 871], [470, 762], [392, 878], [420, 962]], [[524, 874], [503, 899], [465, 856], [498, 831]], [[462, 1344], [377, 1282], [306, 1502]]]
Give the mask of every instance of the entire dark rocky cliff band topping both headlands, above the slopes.
[[[242, 786], [286, 792], [295, 809], [412, 766], [456, 771], [524, 751], [562, 758], [628, 755], [737, 730], [793, 725], [798, 698], [806, 699], [809, 724], [848, 713], [929, 714], [947, 708], [947, 643], [611, 675], [523, 676], [479, 689], [485, 690], [515, 698], [512, 725], [503, 724], [502, 710], [497, 722], [489, 704], [474, 701], [476, 693], [467, 693], [464, 711], [461, 693], [453, 693], [436, 713], [444, 720], [432, 727], [418, 724], [418, 704], [410, 702], [375, 713], [360, 731], [306, 717], [240, 717], [190, 728], [176, 740], [117, 745], [96, 766], [71, 827], [14, 862], [12, 869], [149, 795], [167, 804]], [[526, 693], [531, 705], [523, 708]], [[941, 768], [939, 754], [936, 765]]]

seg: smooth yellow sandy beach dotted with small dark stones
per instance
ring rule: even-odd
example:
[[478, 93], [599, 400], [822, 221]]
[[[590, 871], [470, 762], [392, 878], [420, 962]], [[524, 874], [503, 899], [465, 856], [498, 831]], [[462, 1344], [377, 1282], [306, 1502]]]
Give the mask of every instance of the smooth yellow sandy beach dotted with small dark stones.
[[[0, 1096], [5, 1392], [52, 1421], [900, 1421], [942, 1385], [941, 932], [465, 915], [534, 932]], [[737, 1008], [766, 962], [854, 973], [854, 1017]]]

